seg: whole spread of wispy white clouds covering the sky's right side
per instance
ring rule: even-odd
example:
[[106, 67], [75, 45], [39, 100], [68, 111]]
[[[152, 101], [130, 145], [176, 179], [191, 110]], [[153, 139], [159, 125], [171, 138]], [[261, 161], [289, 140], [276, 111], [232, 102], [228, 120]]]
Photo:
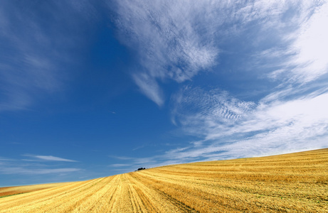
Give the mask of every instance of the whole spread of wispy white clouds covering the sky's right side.
[[[214, 66], [220, 72], [218, 60], [224, 53], [239, 53], [238, 57], [248, 60], [231, 60], [238, 75], [251, 72], [256, 80], [263, 80], [261, 84], [276, 83], [261, 97], [249, 95], [248, 101], [228, 89], [180, 89], [171, 99], [171, 120], [199, 140], [144, 159], [144, 163], [238, 158], [327, 146], [327, 5], [327, 1], [117, 3], [120, 38], [137, 51], [142, 65], [142, 71], [134, 75], [146, 76], [137, 79], [137, 84], [157, 104], [164, 103], [157, 82], [185, 82]], [[155, 40], [159, 45], [154, 45]], [[236, 41], [237, 49], [226, 45]], [[185, 44], [208, 50], [207, 60], [195, 57], [191, 62], [184, 53], [192, 48], [184, 48]]]

